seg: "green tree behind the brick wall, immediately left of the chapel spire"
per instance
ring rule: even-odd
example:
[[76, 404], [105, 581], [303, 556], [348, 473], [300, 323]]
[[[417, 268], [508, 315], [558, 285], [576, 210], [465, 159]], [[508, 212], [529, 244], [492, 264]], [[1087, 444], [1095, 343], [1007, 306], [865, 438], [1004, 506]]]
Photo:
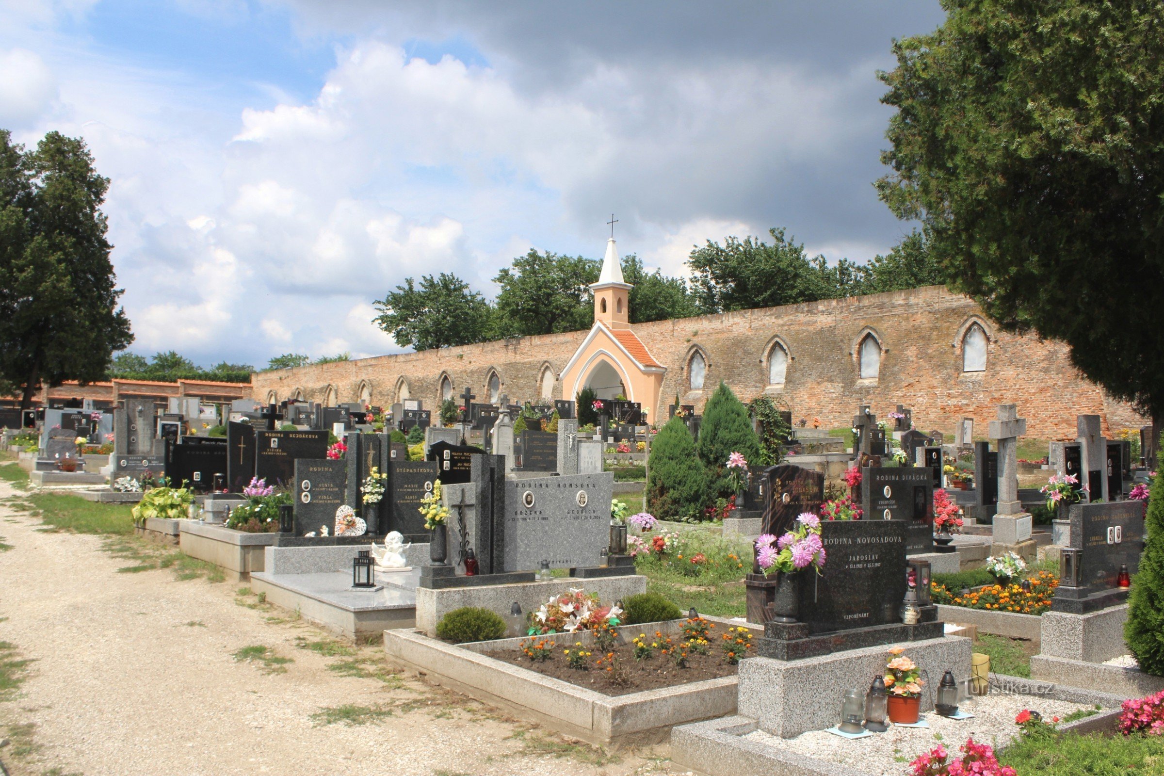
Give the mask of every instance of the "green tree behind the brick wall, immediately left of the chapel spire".
[[504, 334], [531, 336], [577, 332], [594, 323], [590, 284], [601, 262], [560, 256], [533, 248], [513, 259], [494, 282], [501, 286], [496, 307]]

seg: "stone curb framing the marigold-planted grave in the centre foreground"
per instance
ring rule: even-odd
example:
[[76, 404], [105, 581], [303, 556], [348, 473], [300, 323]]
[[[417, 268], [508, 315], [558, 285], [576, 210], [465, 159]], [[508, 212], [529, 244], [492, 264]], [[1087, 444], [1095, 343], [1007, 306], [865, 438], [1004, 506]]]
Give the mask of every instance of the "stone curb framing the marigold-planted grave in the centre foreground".
[[[728, 622], [716, 618], [707, 619]], [[677, 633], [680, 622], [682, 620], [629, 625], [618, 631], [646, 632], [650, 628]], [[585, 642], [589, 635], [561, 633], [545, 638], [555, 642]], [[520, 641], [521, 639], [502, 639], [474, 645], [449, 645], [418, 631], [384, 632], [384, 650], [389, 658], [410, 671], [424, 674], [427, 681], [598, 746], [658, 743], [666, 740], [667, 733], [675, 725], [732, 714], [736, 711], [736, 676], [608, 696], [502, 662], [488, 654], [516, 646]]]

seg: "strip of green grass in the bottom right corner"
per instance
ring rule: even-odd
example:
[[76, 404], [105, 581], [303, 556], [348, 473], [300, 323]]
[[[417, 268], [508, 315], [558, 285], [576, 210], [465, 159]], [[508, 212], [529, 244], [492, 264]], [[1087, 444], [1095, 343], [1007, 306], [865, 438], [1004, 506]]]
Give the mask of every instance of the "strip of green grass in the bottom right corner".
[[998, 752], [1017, 776], [1128, 776], [1164, 773], [1158, 735], [1056, 733], [1022, 735]]

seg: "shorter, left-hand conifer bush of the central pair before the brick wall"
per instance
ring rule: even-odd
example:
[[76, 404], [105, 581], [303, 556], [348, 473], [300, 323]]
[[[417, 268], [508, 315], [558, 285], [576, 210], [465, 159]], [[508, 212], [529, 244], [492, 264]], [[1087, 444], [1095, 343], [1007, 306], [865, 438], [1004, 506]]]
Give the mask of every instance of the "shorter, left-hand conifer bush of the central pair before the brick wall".
[[708, 475], [695, 455], [687, 423], [675, 415], [651, 442], [647, 511], [659, 518], [700, 515], [707, 505]]

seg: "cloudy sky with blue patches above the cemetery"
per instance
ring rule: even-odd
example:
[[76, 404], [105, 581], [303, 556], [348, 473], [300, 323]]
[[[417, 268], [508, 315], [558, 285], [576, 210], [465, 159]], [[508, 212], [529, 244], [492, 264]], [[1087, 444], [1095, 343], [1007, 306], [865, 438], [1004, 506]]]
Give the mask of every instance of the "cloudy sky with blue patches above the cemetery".
[[890, 41], [936, 0], [0, 0], [0, 127], [83, 136], [136, 342], [258, 366], [399, 350], [405, 277], [530, 247], [681, 273], [787, 227], [864, 262]]

